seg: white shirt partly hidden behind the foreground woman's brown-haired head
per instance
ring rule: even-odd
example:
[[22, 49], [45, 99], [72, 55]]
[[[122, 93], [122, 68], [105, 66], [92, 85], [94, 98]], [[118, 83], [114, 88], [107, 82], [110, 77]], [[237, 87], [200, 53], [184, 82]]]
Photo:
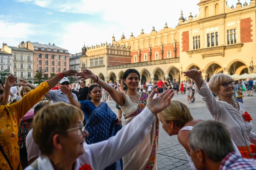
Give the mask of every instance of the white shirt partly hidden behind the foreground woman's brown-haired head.
[[32, 158], [40, 156], [40, 150], [33, 140], [33, 128], [29, 131], [26, 138], [26, 146], [28, 152], [28, 161]]

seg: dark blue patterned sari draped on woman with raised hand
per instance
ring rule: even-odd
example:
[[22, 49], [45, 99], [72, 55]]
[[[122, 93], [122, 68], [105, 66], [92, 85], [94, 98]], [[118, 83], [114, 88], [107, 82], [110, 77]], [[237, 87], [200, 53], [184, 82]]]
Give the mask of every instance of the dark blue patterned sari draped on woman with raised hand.
[[[95, 106], [92, 102], [91, 108]], [[95, 106], [96, 107], [96, 106]], [[86, 121], [85, 129], [89, 132], [89, 136], [85, 138], [90, 143], [101, 142], [109, 139], [111, 136], [115, 136], [117, 131], [122, 128], [122, 125], [117, 125], [113, 122], [117, 118], [117, 115], [111, 110], [111, 108], [105, 102], [96, 107], [89, 115]], [[112, 165], [105, 168], [105, 170], [122, 170], [123, 161], [122, 158]]]

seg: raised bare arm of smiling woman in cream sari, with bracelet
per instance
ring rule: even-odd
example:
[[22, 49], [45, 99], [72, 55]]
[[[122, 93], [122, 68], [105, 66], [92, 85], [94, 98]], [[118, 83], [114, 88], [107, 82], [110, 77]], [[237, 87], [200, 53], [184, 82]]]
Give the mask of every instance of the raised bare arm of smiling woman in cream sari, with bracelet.
[[107, 84], [105, 81], [98, 78], [91, 70], [84, 69], [79, 74], [81, 77], [78, 77], [78, 79], [89, 79], [89, 78], [93, 79], [94, 82], [96, 82], [103, 89], [108, 91], [108, 93], [111, 95], [111, 97], [117, 104], [119, 104], [120, 106], [124, 105], [125, 95], [123, 93], [119, 93], [114, 87], [112, 87], [111, 85]]

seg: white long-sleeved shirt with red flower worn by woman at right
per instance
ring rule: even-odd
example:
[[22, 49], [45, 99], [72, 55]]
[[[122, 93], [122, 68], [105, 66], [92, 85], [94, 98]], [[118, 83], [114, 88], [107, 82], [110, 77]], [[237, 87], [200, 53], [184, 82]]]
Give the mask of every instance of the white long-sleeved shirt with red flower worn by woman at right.
[[[243, 117], [243, 114], [245, 114], [244, 104], [238, 102], [238, 111], [227, 102], [216, 101], [215, 97], [213, 96], [205, 82], [203, 82], [200, 90], [197, 88], [196, 84], [194, 84], [193, 89], [197, 90], [198, 94], [201, 95], [213, 119], [217, 122], [221, 122], [227, 125], [230, 137], [237, 146], [246, 146], [245, 140], [247, 142], [247, 145], [250, 145], [251, 143], [256, 144], [256, 134], [251, 132], [252, 123], [245, 121]], [[237, 122], [231, 114], [235, 117]], [[242, 129], [240, 126], [242, 127]], [[244, 132], [245, 140], [242, 134], [242, 130]]]

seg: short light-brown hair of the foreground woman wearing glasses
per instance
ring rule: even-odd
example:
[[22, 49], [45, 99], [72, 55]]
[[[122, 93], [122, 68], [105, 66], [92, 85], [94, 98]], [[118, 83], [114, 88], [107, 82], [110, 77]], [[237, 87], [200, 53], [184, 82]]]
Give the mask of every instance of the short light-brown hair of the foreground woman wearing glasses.
[[33, 138], [42, 155], [49, 156], [53, 152], [53, 136], [60, 134], [67, 135], [66, 130], [77, 120], [82, 120], [81, 109], [59, 102], [47, 104], [35, 115], [32, 126]]

